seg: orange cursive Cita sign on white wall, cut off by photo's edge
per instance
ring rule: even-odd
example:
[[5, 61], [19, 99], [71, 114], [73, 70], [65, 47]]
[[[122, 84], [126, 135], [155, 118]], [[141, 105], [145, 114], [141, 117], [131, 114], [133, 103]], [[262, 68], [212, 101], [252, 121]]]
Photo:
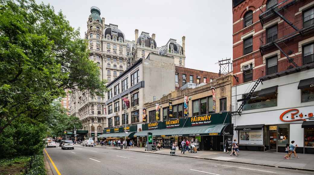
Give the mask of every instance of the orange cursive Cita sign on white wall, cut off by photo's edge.
[[285, 122], [290, 122], [290, 121], [299, 121], [303, 120], [306, 121], [306, 119], [311, 119], [313, 117], [313, 113], [302, 113], [300, 112], [299, 109], [289, 109], [284, 111], [280, 115], [280, 120], [285, 121]]

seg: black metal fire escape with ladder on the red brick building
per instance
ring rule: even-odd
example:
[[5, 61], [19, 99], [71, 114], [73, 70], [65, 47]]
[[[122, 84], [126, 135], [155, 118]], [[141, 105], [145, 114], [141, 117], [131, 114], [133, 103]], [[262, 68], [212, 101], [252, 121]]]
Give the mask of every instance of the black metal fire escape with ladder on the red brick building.
[[[300, 0], [290, 2], [285, 0], [272, 6], [265, 12], [263, 12], [260, 8], [262, 14], [259, 15], [259, 19], [262, 26], [274, 19], [277, 19], [278, 17], [280, 20], [284, 20], [283, 23], [277, 24], [273, 30], [269, 30], [271, 32], [267, 32], [268, 30], [266, 30], [266, 32], [262, 34], [262, 37], [260, 38], [261, 44], [259, 47], [261, 55], [263, 56], [264, 54], [267, 54], [277, 48], [282, 54], [284, 54], [284, 56], [287, 57], [287, 59], [278, 61], [275, 66], [267, 65], [266, 67], [255, 69], [255, 73], [259, 79], [255, 81], [252, 89], [247, 95], [245, 95], [244, 98], [251, 97], [257, 85], [264, 80], [314, 68], [313, 62], [305, 62], [302, 54], [296, 55], [288, 46], [289, 43], [294, 40], [301, 40], [303, 36], [309, 35], [314, 31], [314, 23], [312, 21], [310, 21], [309, 24], [304, 22], [307, 21], [307, 19], [311, 19], [311, 16], [304, 15], [302, 18], [296, 19], [295, 14], [291, 14], [289, 12], [289, 10], [291, 11], [293, 8], [299, 8], [299, 6], [302, 5], [305, 4], [302, 4], [302, 1]], [[240, 107], [236, 111], [238, 114], [241, 113], [241, 110], [246, 102], [247, 100], [242, 101]]]

